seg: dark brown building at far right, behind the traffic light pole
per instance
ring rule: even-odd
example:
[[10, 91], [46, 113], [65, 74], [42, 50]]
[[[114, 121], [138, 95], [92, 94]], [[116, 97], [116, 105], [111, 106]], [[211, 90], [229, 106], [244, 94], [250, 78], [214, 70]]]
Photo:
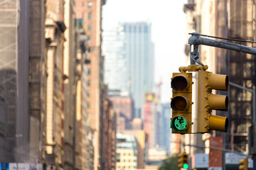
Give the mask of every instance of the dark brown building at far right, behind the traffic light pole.
[[[253, 5], [254, 4], [254, 5]], [[227, 5], [227, 2], [225, 3]], [[255, 1], [230, 1], [230, 13], [226, 18], [226, 27], [228, 38], [240, 40], [256, 41], [255, 37]], [[256, 47], [255, 44], [248, 42], [237, 42], [241, 45]], [[221, 73], [228, 72], [230, 82], [239, 84], [248, 89], [255, 86], [255, 55], [248, 55], [242, 52], [228, 51], [227, 57], [224, 57], [217, 65]], [[218, 58], [217, 58], [218, 59]], [[228, 66], [228, 67], [227, 67]], [[226, 70], [225, 68], [228, 68]], [[245, 152], [247, 150], [247, 132], [248, 124], [252, 122], [252, 94], [249, 91], [238, 89], [235, 86], [230, 86], [229, 89], [230, 108], [228, 111], [228, 119], [230, 127], [228, 131], [226, 148]]]

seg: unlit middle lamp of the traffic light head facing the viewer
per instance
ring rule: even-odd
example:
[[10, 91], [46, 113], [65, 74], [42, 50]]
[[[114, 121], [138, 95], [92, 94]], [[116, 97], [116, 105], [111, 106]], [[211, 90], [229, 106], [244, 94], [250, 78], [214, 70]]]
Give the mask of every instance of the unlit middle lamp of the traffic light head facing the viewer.
[[186, 96], [175, 96], [171, 100], [171, 108], [174, 109], [174, 111], [184, 111], [189, 105], [190, 102]]

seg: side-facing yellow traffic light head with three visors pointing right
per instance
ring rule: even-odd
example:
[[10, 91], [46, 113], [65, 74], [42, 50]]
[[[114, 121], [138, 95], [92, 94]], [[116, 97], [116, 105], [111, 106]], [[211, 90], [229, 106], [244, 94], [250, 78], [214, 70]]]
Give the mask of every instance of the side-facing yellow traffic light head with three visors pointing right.
[[211, 115], [212, 110], [228, 111], [228, 96], [212, 94], [213, 89], [227, 91], [228, 76], [199, 71], [197, 132], [228, 131], [228, 118]]

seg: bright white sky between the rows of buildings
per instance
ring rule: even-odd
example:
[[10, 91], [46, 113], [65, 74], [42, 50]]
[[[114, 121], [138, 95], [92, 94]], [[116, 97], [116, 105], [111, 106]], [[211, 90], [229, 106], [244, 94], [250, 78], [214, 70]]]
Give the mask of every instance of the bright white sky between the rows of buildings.
[[162, 81], [161, 102], [171, 101], [171, 76], [186, 66], [187, 0], [107, 0], [102, 11], [102, 28], [112, 28], [125, 21], [151, 21], [155, 44], [155, 81]]

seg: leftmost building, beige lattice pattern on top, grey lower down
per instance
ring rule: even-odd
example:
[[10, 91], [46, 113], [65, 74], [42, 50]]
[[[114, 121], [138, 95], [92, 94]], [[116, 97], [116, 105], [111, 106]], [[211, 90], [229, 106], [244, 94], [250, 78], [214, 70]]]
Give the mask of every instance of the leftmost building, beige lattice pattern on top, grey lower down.
[[[27, 5], [24, 4], [21, 8], [26, 8]], [[30, 159], [28, 152], [28, 125], [21, 126], [21, 123], [17, 124], [18, 118], [21, 118], [20, 122], [29, 120], [27, 102], [28, 74], [23, 75], [23, 72], [28, 72], [28, 38], [24, 40], [26, 41], [24, 51], [19, 53], [21, 49], [18, 49], [18, 45], [21, 44], [21, 31], [28, 27], [29, 23], [24, 22], [21, 26], [18, 26], [18, 23], [26, 19], [25, 13], [22, 13], [21, 18], [18, 18], [20, 9], [18, 1], [1, 1], [0, 8], [2, 39], [0, 45], [0, 160], [14, 162], [16, 158], [21, 158], [17, 150], [20, 151], [19, 153], [24, 154], [23, 159]], [[14, 19], [10, 20], [10, 18]], [[28, 32], [23, 34], [26, 36]], [[22, 69], [21, 67], [24, 68]], [[21, 72], [18, 72], [19, 70]], [[24, 82], [26, 84], [23, 84]], [[20, 83], [20, 86], [18, 86], [18, 83]], [[23, 91], [23, 93], [18, 95], [18, 91]], [[16, 136], [18, 133], [19, 137], [23, 135], [23, 138], [17, 141], [18, 138]], [[16, 148], [16, 142], [21, 144], [18, 149]]]

